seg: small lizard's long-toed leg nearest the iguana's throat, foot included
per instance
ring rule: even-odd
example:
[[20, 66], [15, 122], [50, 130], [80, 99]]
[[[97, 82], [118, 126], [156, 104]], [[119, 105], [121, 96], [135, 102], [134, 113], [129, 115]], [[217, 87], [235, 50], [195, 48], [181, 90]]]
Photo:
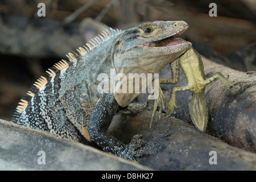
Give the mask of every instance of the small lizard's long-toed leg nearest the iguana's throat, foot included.
[[[159, 119], [162, 118], [162, 115], [161, 115], [162, 109], [166, 109], [165, 103], [163, 102], [163, 99], [165, 99], [165, 96], [163, 95], [163, 91], [161, 89], [160, 84], [177, 84], [179, 82], [179, 59], [170, 63], [170, 68], [171, 68], [171, 78], [159, 77], [159, 85], [158, 85], [159, 97], [156, 98], [154, 102], [154, 109], [151, 117], [150, 129], [154, 121], [155, 113], [157, 112], [157, 106], [159, 105]], [[152, 83], [152, 88], [154, 88], [154, 81]]]

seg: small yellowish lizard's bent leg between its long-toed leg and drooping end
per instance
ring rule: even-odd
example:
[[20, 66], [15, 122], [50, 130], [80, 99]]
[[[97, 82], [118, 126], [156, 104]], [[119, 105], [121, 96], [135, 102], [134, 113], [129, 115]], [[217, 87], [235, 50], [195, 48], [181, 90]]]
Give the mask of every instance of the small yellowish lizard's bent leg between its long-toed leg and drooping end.
[[[174, 86], [173, 88], [171, 88], [170, 100], [169, 100], [168, 104], [166, 105], [166, 108], [168, 107], [168, 110], [167, 110], [165, 115], [168, 115], [168, 117], [170, 117], [171, 114], [173, 114], [174, 107], [177, 108], [177, 106], [175, 104], [176, 92], [177, 91], [186, 91], [186, 90], [190, 90], [190, 86], [189, 85], [186, 85], [186, 86]], [[170, 112], [170, 114], [168, 114], [169, 112]]]

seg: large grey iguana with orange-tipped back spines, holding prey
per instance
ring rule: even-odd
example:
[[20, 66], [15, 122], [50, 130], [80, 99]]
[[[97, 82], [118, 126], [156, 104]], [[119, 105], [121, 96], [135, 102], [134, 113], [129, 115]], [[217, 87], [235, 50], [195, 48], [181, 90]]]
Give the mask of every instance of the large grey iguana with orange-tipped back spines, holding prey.
[[19, 102], [12, 121], [75, 142], [96, 143], [121, 158], [142, 156], [145, 152], [135, 151], [144, 143], [141, 135], [125, 145], [106, 132], [119, 106], [129, 105], [140, 93], [99, 93], [97, 76], [110, 76], [110, 69], [127, 76], [160, 73], [190, 49], [189, 42], [173, 41], [187, 27], [183, 21], [156, 21], [102, 32], [48, 69]]

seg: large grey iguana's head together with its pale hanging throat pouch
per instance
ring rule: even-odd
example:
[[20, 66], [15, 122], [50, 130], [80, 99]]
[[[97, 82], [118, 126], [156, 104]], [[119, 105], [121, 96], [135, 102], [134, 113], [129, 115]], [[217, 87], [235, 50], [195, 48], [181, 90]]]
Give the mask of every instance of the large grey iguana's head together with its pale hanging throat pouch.
[[[139, 92], [115, 92], [114, 96], [120, 106], [127, 106], [135, 97], [146, 88], [145, 83], [153, 81], [149, 73], [161, 73], [162, 68], [191, 48], [191, 43], [176, 40], [187, 29], [183, 21], [157, 21], [143, 23], [138, 27], [123, 31], [115, 43], [113, 66], [117, 73], [126, 75], [126, 79], [116, 79], [115, 90], [119, 91], [122, 85], [126, 88], [136, 88], [136, 83], [130, 84], [130, 73], [146, 75], [139, 82]], [[142, 74], [143, 73], [143, 74]]]

